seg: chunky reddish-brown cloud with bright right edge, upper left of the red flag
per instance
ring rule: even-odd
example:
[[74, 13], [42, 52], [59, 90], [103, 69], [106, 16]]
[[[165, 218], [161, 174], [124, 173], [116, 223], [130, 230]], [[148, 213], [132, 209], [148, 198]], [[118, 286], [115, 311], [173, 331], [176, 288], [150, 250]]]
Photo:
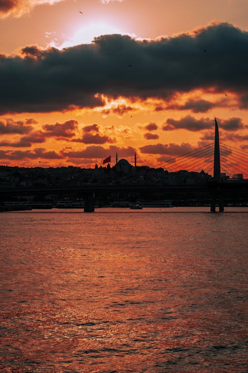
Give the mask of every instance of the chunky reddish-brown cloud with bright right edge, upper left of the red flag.
[[76, 120], [67, 120], [64, 123], [45, 124], [42, 128], [46, 131], [46, 136], [61, 138], [71, 138], [75, 136], [78, 122]]

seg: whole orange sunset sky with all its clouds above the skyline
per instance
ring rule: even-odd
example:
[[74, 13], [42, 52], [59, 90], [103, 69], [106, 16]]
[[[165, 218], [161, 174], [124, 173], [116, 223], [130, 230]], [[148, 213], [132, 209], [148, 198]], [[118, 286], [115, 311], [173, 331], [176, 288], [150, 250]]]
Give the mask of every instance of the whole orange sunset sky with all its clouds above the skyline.
[[155, 167], [215, 117], [248, 152], [248, 0], [0, 0], [0, 165]]

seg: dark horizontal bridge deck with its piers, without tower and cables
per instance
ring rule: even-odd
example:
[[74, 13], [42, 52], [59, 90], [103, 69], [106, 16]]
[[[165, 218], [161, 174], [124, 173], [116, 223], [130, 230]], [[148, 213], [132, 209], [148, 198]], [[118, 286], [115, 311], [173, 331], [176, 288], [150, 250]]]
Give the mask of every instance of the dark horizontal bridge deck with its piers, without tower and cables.
[[[54, 195], [54, 194], [74, 194], [81, 197], [85, 201], [84, 211], [94, 211], [94, 200], [101, 199], [104, 196], [117, 193], [118, 195], [156, 195], [160, 199], [186, 200], [195, 199], [197, 203], [208, 205], [209, 201], [213, 203], [215, 198], [216, 205], [218, 204], [219, 195], [222, 200], [248, 200], [248, 183], [215, 183], [209, 182], [195, 185], [99, 185], [85, 184], [80, 187], [31, 187], [31, 188], [5, 188], [0, 190], [1, 199], [8, 200], [13, 196], [31, 196], [31, 195]], [[203, 203], [204, 202], [204, 203]], [[212, 206], [212, 204], [211, 204]], [[211, 207], [211, 211], [213, 211]], [[214, 211], [213, 211], [214, 212]]]

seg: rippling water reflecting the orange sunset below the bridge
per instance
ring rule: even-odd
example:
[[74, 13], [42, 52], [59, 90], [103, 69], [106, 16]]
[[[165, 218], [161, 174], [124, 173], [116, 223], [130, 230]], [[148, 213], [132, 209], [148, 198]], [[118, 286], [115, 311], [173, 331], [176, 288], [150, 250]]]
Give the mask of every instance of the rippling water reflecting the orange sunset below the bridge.
[[248, 372], [248, 210], [208, 210], [1, 213], [0, 372]]

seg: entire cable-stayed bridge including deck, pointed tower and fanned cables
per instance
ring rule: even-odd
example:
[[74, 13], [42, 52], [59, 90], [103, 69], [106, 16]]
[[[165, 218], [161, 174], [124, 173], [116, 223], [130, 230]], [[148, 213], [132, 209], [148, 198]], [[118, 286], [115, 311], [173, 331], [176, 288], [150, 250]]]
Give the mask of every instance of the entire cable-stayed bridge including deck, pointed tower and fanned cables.
[[[224, 149], [224, 150], [223, 150]], [[213, 153], [213, 158], [211, 155]], [[248, 154], [248, 153], [247, 153]], [[225, 170], [228, 168], [239, 172], [243, 171], [247, 175], [247, 161], [246, 152], [241, 152], [240, 150], [230, 150], [226, 145], [220, 150], [219, 143], [219, 131], [218, 123], [215, 119], [215, 142], [214, 144], [207, 145], [203, 148], [196, 149], [192, 152], [188, 152], [185, 155], [177, 157], [176, 159], [171, 159], [163, 162], [163, 166], [166, 168], [171, 168], [176, 166], [179, 170], [188, 170], [192, 167], [194, 170], [196, 167], [205, 168], [208, 165], [210, 170], [213, 169], [213, 181], [206, 182], [203, 184], [195, 185], [147, 185], [147, 184], [135, 184], [135, 185], [99, 185], [99, 184], [84, 184], [80, 187], [13, 187], [13, 188], [1, 188], [0, 198], [6, 200], [10, 196], [28, 196], [28, 195], [52, 195], [52, 194], [77, 194], [84, 198], [84, 211], [93, 212], [94, 211], [94, 199], [97, 196], [110, 195], [113, 193], [133, 193], [133, 194], [148, 194], [157, 193], [161, 196], [161, 199], [185, 199], [185, 198], [196, 198], [198, 200], [211, 201], [210, 210], [212, 212], [216, 211], [216, 207], [219, 207], [219, 211], [224, 211], [223, 200], [227, 200], [232, 196], [236, 198], [243, 198], [247, 200], [248, 196], [248, 183], [237, 182], [237, 183], [225, 183], [221, 180], [221, 169], [223, 169], [220, 163], [220, 155], [222, 156]], [[229, 159], [227, 157], [230, 157]], [[237, 163], [239, 166], [237, 166]], [[162, 164], [157, 166], [161, 167]], [[209, 172], [209, 170], [207, 170]], [[225, 171], [224, 170], [224, 171]], [[227, 172], [226, 172], [227, 173]]]

